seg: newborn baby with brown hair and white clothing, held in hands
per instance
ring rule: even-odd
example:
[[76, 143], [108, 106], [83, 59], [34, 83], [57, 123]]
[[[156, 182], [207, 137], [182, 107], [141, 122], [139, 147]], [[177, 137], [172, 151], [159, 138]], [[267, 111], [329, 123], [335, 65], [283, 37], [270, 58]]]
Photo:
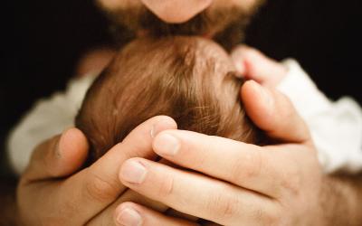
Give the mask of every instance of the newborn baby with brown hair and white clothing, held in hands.
[[[265, 66], [264, 57], [252, 59], [253, 63], [248, 61], [249, 71]], [[273, 86], [291, 99], [307, 122], [324, 171], [359, 171], [361, 108], [346, 97], [330, 101], [297, 61], [291, 59], [281, 65], [287, 74]], [[94, 74], [71, 80], [65, 92], [37, 101], [9, 136], [9, 161], [17, 174], [24, 172], [34, 147], [67, 127], [74, 127], [77, 114], [76, 126], [90, 140], [88, 164], [121, 141], [138, 123], [160, 114], [175, 118], [181, 129], [265, 144], [262, 133], [243, 112], [239, 99], [243, 81], [235, 79], [233, 71], [233, 63], [224, 50], [202, 38], [131, 42], [95, 81], [84, 103]], [[271, 72], [262, 73], [263, 78], [260, 74], [246, 76], [271, 84], [275, 79]]]

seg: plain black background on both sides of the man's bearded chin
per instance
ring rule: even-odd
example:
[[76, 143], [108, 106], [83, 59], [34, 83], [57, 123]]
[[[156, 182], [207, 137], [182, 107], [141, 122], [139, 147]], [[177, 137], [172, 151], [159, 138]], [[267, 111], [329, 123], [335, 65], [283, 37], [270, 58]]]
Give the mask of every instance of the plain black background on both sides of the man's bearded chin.
[[[330, 98], [349, 95], [362, 103], [361, 6], [360, 0], [270, 0], [246, 42], [277, 60], [296, 58]], [[2, 11], [0, 162], [5, 168], [8, 129], [35, 99], [63, 89], [81, 53], [110, 36], [90, 0], [5, 1]]]

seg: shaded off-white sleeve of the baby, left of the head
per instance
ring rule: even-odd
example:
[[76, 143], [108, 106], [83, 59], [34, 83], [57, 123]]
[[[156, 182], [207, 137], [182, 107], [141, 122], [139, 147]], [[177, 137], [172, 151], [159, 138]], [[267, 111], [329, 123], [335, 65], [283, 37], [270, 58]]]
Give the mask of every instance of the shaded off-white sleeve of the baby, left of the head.
[[56, 92], [49, 99], [38, 100], [10, 131], [6, 149], [16, 174], [24, 172], [37, 145], [74, 126], [74, 118], [94, 78], [93, 75], [87, 75], [71, 80], [64, 92]]

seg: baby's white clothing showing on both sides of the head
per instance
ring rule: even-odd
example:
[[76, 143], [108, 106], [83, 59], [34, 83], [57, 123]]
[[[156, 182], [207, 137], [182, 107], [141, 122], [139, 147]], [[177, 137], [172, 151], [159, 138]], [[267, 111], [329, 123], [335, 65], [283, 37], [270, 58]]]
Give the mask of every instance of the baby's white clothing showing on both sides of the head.
[[[289, 70], [278, 89], [286, 94], [310, 127], [326, 172], [362, 169], [362, 110], [350, 98], [332, 102], [317, 89], [297, 61], [282, 62]], [[8, 155], [21, 174], [33, 148], [41, 141], [73, 126], [86, 89], [93, 77], [71, 80], [64, 93], [38, 101], [10, 135]]]

